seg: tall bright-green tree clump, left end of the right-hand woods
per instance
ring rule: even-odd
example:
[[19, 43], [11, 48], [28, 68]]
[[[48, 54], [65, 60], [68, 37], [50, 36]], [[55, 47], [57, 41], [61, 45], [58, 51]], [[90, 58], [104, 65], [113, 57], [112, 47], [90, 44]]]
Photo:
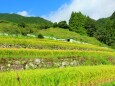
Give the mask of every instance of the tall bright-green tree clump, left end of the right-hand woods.
[[86, 35], [85, 22], [86, 17], [81, 12], [72, 12], [69, 20], [70, 30]]

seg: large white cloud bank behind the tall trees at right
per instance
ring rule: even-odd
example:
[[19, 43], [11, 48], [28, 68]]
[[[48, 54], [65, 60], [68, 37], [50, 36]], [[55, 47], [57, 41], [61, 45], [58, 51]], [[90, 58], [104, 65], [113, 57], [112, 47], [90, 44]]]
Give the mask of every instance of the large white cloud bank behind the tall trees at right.
[[81, 11], [93, 19], [108, 17], [115, 11], [115, 0], [72, 0], [70, 4], [65, 3], [44, 18], [53, 22], [68, 21], [72, 11]]

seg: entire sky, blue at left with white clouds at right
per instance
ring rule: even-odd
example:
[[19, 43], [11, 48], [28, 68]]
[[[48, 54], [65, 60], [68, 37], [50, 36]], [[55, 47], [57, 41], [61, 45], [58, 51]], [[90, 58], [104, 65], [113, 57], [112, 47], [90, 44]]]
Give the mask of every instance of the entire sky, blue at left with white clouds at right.
[[109, 17], [115, 11], [115, 0], [0, 0], [0, 13], [40, 16], [52, 22], [68, 21], [72, 11], [93, 19]]

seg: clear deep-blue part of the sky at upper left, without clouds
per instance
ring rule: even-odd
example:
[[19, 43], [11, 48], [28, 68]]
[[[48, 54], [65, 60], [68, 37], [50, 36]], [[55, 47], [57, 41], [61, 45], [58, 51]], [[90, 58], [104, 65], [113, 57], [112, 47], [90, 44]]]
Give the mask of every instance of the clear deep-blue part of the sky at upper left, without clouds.
[[27, 11], [30, 15], [42, 16], [55, 11], [71, 0], [0, 0], [0, 13]]

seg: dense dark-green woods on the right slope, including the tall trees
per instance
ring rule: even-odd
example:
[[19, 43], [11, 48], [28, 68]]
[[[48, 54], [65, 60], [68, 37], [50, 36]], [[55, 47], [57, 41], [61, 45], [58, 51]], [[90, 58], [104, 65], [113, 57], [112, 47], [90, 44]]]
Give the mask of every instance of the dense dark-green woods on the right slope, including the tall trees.
[[72, 12], [69, 28], [80, 34], [87, 34], [99, 41], [115, 47], [115, 12], [108, 18], [99, 20], [91, 19], [81, 12]]

